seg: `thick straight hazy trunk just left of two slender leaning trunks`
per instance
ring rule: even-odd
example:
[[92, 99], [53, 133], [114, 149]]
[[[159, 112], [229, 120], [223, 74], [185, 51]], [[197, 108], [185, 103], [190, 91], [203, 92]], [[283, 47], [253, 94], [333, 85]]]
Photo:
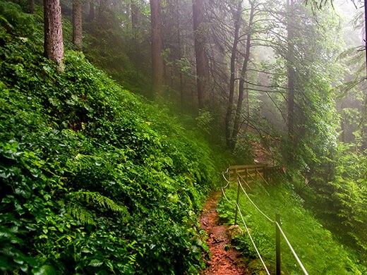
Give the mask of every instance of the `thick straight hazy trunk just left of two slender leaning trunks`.
[[193, 31], [196, 59], [196, 83], [198, 89], [198, 107], [204, 109], [209, 102], [207, 82], [209, 71], [205, 53], [206, 35], [204, 25], [204, 0], [193, 0]]

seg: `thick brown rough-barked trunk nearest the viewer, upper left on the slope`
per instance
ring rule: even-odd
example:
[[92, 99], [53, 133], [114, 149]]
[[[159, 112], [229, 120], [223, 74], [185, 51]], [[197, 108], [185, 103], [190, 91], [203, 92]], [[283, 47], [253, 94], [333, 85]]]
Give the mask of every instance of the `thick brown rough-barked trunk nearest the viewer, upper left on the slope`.
[[63, 70], [64, 44], [59, 0], [44, 0], [44, 56], [55, 61], [59, 70]]

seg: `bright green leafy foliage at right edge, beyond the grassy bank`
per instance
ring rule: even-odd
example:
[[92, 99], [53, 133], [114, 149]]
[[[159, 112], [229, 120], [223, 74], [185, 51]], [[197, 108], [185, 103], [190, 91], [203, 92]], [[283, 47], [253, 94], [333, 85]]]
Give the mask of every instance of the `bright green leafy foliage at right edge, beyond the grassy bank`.
[[366, 255], [367, 158], [366, 152], [353, 149], [354, 145], [339, 145], [329, 181], [318, 182], [319, 188], [313, 192], [332, 205], [329, 213], [342, 224], [339, 231], [351, 236], [352, 243]]

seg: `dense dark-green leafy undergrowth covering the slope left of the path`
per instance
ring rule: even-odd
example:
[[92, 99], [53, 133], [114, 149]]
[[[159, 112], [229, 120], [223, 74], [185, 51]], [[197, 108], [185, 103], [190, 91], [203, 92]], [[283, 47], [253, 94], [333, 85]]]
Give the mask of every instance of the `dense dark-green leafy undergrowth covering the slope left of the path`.
[[67, 51], [58, 73], [36, 43], [40, 18], [0, 11], [1, 272], [202, 269], [210, 147], [83, 54]]

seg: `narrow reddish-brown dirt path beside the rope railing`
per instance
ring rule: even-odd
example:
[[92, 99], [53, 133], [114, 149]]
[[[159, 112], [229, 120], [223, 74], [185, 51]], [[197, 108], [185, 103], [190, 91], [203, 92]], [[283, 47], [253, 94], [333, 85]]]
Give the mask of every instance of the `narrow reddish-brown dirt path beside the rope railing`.
[[207, 269], [201, 275], [243, 275], [244, 270], [241, 254], [231, 247], [227, 229], [229, 226], [219, 224], [216, 207], [220, 192], [211, 193], [200, 217], [200, 228], [207, 233], [207, 245], [211, 253]]

